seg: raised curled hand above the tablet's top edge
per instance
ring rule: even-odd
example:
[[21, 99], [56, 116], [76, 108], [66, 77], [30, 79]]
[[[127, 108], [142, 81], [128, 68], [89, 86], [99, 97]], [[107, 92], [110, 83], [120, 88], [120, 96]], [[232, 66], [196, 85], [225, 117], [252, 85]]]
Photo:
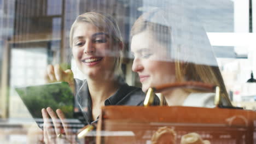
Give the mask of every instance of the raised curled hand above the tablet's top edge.
[[71, 69], [63, 70], [59, 64], [56, 64], [54, 66], [48, 65], [44, 76], [44, 80], [46, 83], [60, 81], [68, 82], [72, 92], [74, 93], [74, 75]]

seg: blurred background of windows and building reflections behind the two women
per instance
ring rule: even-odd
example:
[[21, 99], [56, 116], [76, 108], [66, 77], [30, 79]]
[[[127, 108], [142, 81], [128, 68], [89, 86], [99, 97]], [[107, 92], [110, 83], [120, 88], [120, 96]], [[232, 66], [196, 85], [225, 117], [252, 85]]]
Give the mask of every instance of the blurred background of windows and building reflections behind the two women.
[[[26, 125], [33, 119], [14, 87], [43, 83], [48, 64], [72, 68], [69, 29], [79, 14], [112, 15], [125, 42], [122, 68], [126, 82], [139, 86], [132, 72], [130, 29], [144, 11], [173, 4], [155, 0], [0, 0], [0, 140], [26, 143]], [[193, 9], [207, 32], [232, 103], [256, 110], [256, 0], [197, 0], [182, 3]], [[248, 81], [248, 82], [247, 82]], [[254, 81], [254, 82], [253, 82]], [[9, 133], [9, 134], [8, 134]], [[2, 143], [2, 142], [1, 142]]]

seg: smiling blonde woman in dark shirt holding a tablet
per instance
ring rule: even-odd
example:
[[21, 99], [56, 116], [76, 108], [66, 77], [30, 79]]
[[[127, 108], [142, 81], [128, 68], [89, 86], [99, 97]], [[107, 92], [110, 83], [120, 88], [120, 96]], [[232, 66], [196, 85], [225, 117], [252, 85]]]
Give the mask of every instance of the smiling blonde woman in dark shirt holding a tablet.
[[[46, 80], [69, 83], [86, 124], [97, 122], [101, 106], [143, 104], [145, 95], [141, 88], [129, 86], [121, 79], [123, 40], [111, 16], [94, 12], [79, 15], [71, 27], [69, 39], [75, 63], [86, 80], [74, 79], [71, 70], [63, 71], [59, 65], [49, 65]], [[55, 113], [48, 107], [42, 110], [42, 115], [44, 142], [62, 142], [60, 134], [65, 134], [65, 141], [74, 141], [60, 110]], [[49, 118], [53, 119], [55, 128], [49, 126]], [[57, 121], [59, 118], [61, 121]], [[64, 131], [59, 128], [60, 123]]]

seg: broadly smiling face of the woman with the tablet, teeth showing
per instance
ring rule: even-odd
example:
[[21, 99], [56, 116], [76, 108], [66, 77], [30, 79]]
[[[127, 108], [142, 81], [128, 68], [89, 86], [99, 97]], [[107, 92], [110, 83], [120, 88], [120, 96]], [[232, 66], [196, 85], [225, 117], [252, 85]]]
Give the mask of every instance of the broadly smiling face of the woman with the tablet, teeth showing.
[[109, 35], [87, 22], [77, 23], [73, 33], [72, 53], [78, 68], [89, 78], [113, 74], [114, 61]]

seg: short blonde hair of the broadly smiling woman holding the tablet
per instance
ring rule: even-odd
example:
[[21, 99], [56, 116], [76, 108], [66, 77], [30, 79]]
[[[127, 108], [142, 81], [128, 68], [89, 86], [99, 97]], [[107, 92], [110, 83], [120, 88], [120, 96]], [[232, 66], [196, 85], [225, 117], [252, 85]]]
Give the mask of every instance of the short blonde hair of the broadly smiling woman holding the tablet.
[[[123, 62], [123, 38], [121, 36], [121, 32], [119, 30], [117, 22], [114, 18], [110, 15], [104, 13], [96, 13], [96, 12], [89, 12], [79, 15], [77, 19], [75, 19], [73, 25], [71, 26], [71, 30], [69, 33], [69, 46], [72, 48], [73, 46], [73, 34], [74, 30], [77, 27], [78, 23], [80, 22], [87, 22], [95, 27], [97, 27], [101, 32], [107, 33], [109, 38], [112, 40], [110, 41], [111, 45], [117, 45], [112, 47], [113, 52], [118, 53], [118, 57], [115, 59], [115, 67], [114, 73], [116, 75], [121, 75], [121, 63]], [[120, 45], [121, 44], [121, 45]], [[121, 47], [120, 47], [121, 46]], [[117, 49], [118, 47], [118, 49]]]

